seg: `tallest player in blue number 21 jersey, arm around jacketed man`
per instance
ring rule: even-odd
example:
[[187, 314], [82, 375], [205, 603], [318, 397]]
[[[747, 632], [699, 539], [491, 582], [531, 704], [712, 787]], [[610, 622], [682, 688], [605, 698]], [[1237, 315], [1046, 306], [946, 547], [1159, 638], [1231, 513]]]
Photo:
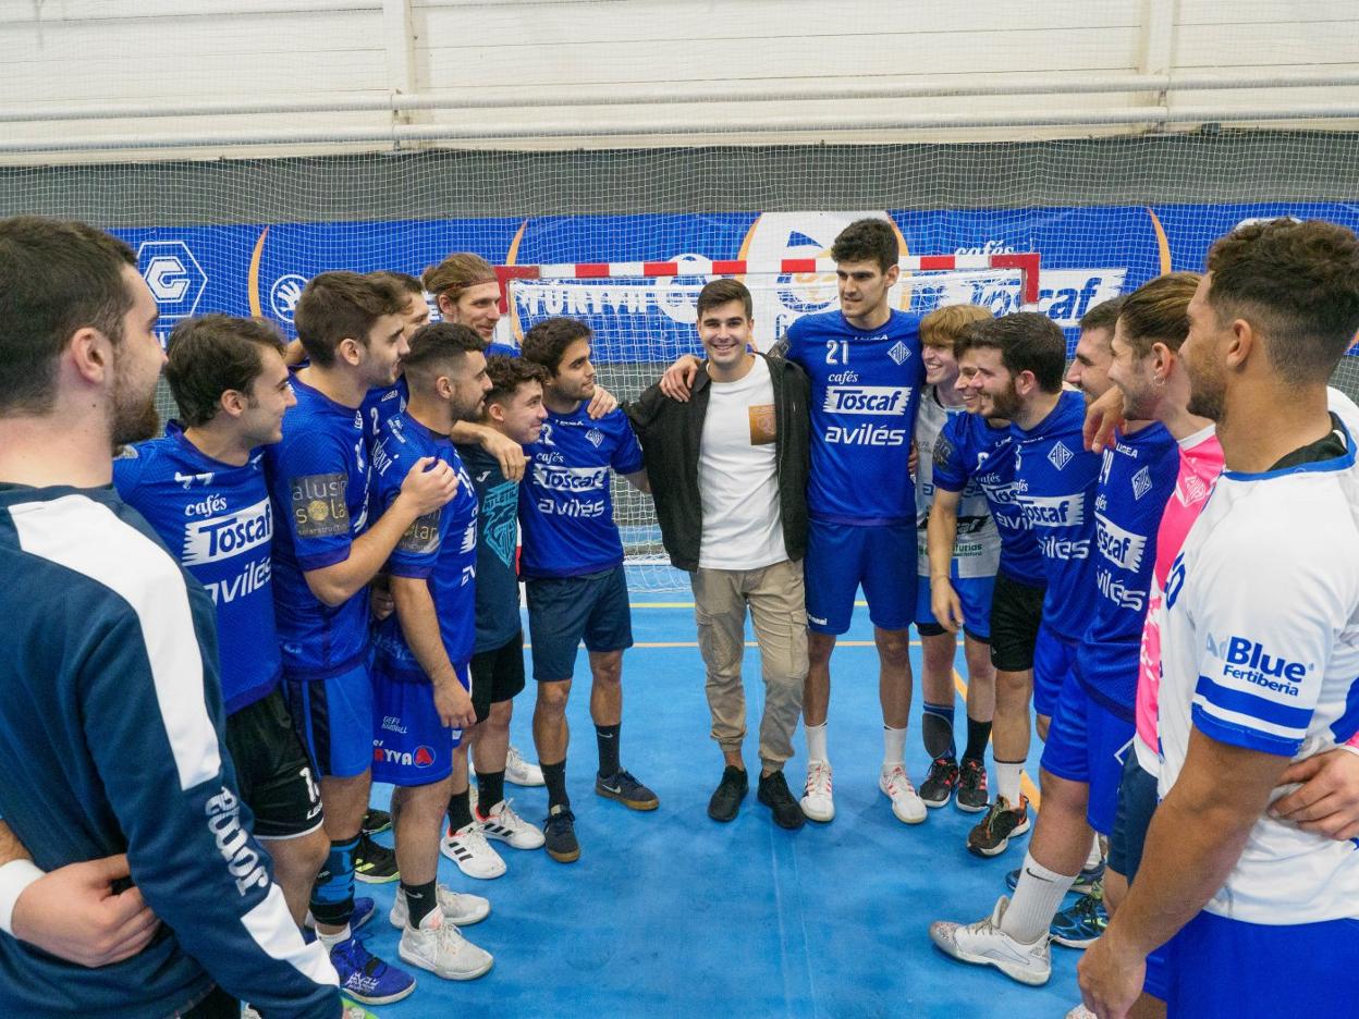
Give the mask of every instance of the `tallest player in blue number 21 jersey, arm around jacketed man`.
[[[919, 319], [892, 308], [901, 250], [892, 223], [862, 219], [836, 238], [840, 308], [806, 315], [788, 327], [779, 349], [811, 379], [811, 526], [805, 561], [807, 671], [803, 726], [807, 783], [802, 810], [813, 821], [834, 818], [826, 712], [830, 654], [849, 629], [860, 584], [878, 647], [883, 758], [878, 788], [898, 821], [925, 819], [925, 804], [906, 777], [904, 751], [911, 715], [911, 624], [916, 561], [911, 435], [924, 382]], [[786, 348], [786, 349], [784, 349]], [[673, 364], [666, 395], [686, 399], [699, 360]]]

